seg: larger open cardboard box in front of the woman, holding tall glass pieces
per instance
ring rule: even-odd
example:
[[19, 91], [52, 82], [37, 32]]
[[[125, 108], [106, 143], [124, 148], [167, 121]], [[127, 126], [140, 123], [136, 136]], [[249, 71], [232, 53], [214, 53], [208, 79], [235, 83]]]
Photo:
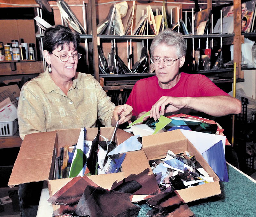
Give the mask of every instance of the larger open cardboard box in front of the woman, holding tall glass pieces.
[[[54, 172], [54, 148], [58, 150], [65, 145], [74, 145], [77, 143], [81, 128], [62, 129], [52, 132], [33, 133], [25, 136], [15, 164], [10, 176], [8, 186], [13, 187], [17, 184], [38, 182], [48, 180], [50, 195], [56, 192], [55, 183], [60, 186], [61, 183], [67, 183], [70, 179], [52, 180]], [[93, 140], [98, 133], [98, 128], [87, 128], [87, 140]], [[114, 127], [100, 128], [100, 135], [111, 139]], [[124, 142], [132, 134], [123, 130], [118, 131], [116, 141], [118, 144]], [[102, 137], [100, 137], [102, 140]], [[136, 159], [133, 160], [133, 159]], [[143, 150], [127, 152], [122, 163], [121, 173], [92, 175], [89, 178], [103, 188], [111, 188], [113, 182], [121, 181], [130, 174], [139, 174], [149, 168], [148, 160]], [[149, 168], [149, 174], [152, 174]], [[62, 185], [63, 186], [63, 185]]]

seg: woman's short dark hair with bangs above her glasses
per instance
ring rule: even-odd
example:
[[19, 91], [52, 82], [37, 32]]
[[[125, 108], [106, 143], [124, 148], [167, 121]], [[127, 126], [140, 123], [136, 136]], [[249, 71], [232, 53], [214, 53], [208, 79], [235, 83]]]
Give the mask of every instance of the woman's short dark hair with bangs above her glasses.
[[76, 31], [72, 31], [70, 28], [63, 25], [54, 25], [49, 27], [44, 32], [43, 49], [52, 52], [57, 47], [63, 49], [64, 45], [73, 43], [74, 50], [80, 43], [80, 35]]

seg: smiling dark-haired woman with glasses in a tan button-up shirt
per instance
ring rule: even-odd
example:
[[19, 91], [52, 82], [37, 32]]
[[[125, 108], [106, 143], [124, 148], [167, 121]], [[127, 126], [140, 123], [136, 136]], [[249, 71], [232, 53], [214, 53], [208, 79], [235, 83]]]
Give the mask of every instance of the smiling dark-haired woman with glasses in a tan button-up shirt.
[[[45, 30], [43, 55], [45, 72], [21, 88], [18, 104], [20, 137], [36, 132], [69, 128], [90, 128], [97, 119], [106, 127], [122, 124], [132, 116], [132, 107], [115, 107], [90, 74], [76, 72], [81, 54], [80, 35], [55, 25]], [[41, 183], [19, 186], [21, 216], [36, 216]]]

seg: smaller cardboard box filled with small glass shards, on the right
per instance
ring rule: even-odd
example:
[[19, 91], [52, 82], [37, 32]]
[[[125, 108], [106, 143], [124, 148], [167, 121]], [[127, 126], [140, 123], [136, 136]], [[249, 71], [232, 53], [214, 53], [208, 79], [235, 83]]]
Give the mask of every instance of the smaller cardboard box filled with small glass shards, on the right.
[[196, 150], [193, 144], [182, 134], [180, 130], [173, 130], [150, 136], [144, 136], [142, 144], [142, 149], [145, 152], [148, 160], [160, 159], [160, 156], [166, 156], [168, 150], [171, 150], [175, 154], [189, 151], [191, 155], [195, 155], [196, 160], [201, 164], [209, 176], [213, 177], [214, 182], [177, 190], [180, 197], [186, 203], [221, 193], [218, 176], [214, 173], [203, 156]]

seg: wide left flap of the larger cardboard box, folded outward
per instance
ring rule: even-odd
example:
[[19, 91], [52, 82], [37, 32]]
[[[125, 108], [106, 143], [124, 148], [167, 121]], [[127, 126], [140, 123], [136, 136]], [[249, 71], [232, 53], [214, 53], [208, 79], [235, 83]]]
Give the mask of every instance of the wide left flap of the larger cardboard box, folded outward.
[[51, 171], [57, 131], [25, 136], [14, 163], [8, 186], [47, 180]]

